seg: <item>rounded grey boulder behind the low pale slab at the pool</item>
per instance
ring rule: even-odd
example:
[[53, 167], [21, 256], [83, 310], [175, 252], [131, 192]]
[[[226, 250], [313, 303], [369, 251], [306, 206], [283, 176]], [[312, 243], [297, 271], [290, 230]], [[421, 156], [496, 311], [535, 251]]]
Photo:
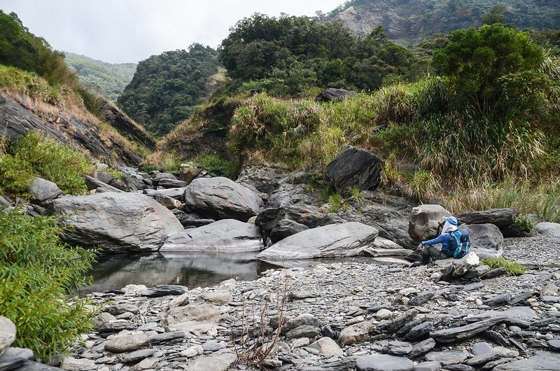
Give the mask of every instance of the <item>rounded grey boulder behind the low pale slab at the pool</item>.
[[264, 205], [252, 190], [223, 177], [195, 179], [183, 197], [188, 211], [214, 219], [247, 221]]

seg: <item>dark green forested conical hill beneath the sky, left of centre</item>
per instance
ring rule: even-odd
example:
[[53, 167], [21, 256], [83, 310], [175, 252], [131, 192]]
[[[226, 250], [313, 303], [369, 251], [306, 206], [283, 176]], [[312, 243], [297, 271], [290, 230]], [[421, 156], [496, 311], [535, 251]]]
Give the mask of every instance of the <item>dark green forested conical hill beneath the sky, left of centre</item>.
[[155, 134], [167, 134], [192, 113], [218, 72], [216, 50], [200, 44], [140, 62], [118, 105]]

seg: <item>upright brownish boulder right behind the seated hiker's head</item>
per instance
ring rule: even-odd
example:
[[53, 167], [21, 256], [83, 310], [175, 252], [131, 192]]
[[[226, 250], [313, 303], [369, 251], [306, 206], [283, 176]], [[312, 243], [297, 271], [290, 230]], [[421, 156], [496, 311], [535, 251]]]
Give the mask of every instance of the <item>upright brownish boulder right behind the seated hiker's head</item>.
[[414, 242], [437, 237], [444, 216], [451, 216], [441, 205], [420, 205], [412, 209], [408, 224], [408, 234]]

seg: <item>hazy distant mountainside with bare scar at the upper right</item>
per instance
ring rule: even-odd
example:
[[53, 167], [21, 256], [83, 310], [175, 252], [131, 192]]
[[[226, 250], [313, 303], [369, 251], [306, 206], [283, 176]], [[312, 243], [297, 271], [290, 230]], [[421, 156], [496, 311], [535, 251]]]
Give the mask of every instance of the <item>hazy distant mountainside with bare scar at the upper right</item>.
[[557, 0], [353, 0], [323, 15], [342, 20], [356, 34], [382, 25], [391, 39], [417, 41], [436, 32], [482, 25], [482, 17], [505, 4], [505, 23], [519, 28], [560, 29]]

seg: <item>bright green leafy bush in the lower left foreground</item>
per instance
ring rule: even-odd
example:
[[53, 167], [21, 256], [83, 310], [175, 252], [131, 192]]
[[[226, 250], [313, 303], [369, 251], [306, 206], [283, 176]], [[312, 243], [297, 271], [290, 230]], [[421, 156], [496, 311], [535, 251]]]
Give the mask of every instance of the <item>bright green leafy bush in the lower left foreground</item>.
[[87, 302], [66, 294], [89, 282], [94, 251], [59, 241], [57, 219], [0, 211], [0, 313], [18, 328], [14, 346], [48, 360], [92, 328]]

